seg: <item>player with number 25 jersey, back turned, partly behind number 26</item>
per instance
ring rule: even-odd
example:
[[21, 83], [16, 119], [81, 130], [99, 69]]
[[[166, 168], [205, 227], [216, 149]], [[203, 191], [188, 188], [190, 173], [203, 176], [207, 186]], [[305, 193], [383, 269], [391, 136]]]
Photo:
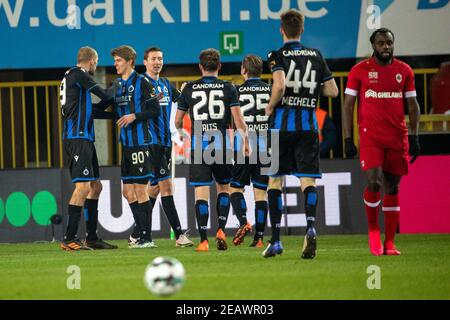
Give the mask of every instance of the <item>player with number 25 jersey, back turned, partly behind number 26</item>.
[[[241, 65], [241, 75], [245, 82], [236, 87], [239, 93], [239, 102], [244, 120], [249, 130], [250, 145], [256, 162], [250, 163], [248, 157], [245, 163], [236, 161], [233, 165], [233, 178], [230, 183], [230, 199], [233, 210], [239, 220], [239, 228], [234, 236], [233, 244], [240, 245], [247, 233], [252, 231], [251, 224], [247, 220], [247, 204], [244, 198], [246, 185], [253, 185], [255, 199], [255, 236], [252, 247], [263, 246], [264, 228], [267, 220], [267, 184], [269, 177], [262, 175], [260, 154], [267, 153], [267, 132], [269, 129], [269, 117], [265, 114], [265, 108], [270, 100], [271, 86], [261, 80], [263, 61], [257, 55], [246, 55]], [[240, 152], [242, 142], [239, 136], [234, 143], [235, 152]], [[255, 153], [256, 152], [256, 153]]]

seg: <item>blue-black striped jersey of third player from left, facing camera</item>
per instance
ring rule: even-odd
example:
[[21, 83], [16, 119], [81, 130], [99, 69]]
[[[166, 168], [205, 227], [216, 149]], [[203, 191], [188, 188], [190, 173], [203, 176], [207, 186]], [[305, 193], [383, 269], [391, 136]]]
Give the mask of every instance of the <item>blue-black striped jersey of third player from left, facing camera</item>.
[[145, 77], [153, 86], [153, 95], [160, 92], [164, 94], [164, 98], [159, 100], [161, 105], [161, 114], [158, 118], [150, 119], [150, 134], [152, 136], [152, 144], [159, 144], [165, 147], [172, 147], [172, 139], [170, 132], [170, 115], [172, 111], [172, 102], [176, 102], [180, 96], [180, 91], [175, 88], [168, 79], [159, 78], [154, 80], [148, 74]]

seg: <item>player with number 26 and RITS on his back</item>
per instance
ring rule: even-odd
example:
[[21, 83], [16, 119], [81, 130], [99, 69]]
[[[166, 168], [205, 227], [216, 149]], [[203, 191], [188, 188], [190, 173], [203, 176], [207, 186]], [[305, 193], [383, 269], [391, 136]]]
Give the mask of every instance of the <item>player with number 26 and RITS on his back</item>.
[[[191, 164], [189, 180], [195, 186], [195, 211], [200, 244], [196, 251], [208, 251], [207, 224], [209, 218], [210, 185], [216, 181], [217, 212], [219, 228], [216, 233], [218, 250], [226, 250], [224, 228], [230, 210], [229, 183], [231, 160], [227, 129], [231, 117], [244, 138], [244, 150], [248, 154], [247, 127], [239, 107], [236, 88], [227, 81], [219, 80], [220, 53], [215, 49], [203, 50], [199, 57], [202, 78], [186, 84], [178, 100], [175, 126], [182, 128], [183, 117], [189, 111], [193, 123], [191, 140]], [[199, 156], [200, 155], [200, 156]], [[213, 158], [210, 159], [208, 155]]]

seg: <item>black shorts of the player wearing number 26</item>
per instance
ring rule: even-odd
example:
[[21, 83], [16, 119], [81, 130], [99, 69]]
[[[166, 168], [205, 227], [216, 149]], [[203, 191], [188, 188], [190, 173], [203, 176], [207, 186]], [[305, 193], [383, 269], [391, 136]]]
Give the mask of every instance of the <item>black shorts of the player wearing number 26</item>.
[[189, 182], [192, 186], [209, 186], [214, 180], [218, 184], [228, 184], [231, 181], [232, 165], [230, 164], [190, 164]]

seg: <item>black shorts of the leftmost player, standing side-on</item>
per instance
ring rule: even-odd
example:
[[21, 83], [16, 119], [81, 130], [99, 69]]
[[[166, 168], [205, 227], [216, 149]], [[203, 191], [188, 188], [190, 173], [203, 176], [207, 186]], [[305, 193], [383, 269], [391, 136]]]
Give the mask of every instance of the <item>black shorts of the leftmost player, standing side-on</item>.
[[72, 182], [86, 182], [99, 179], [97, 152], [92, 141], [86, 139], [64, 139], [64, 151], [69, 164]]

